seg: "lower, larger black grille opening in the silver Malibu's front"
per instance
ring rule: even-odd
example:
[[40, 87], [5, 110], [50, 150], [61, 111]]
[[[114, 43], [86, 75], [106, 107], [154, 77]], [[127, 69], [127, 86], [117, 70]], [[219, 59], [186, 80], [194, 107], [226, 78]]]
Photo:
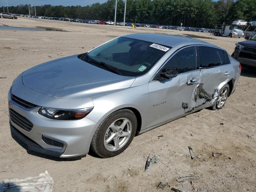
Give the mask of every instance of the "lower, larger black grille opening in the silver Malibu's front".
[[26, 131], [32, 130], [33, 124], [27, 118], [18, 114], [16, 111], [12, 110], [11, 108], [9, 108], [9, 111], [10, 111], [10, 119], [14, 124], [18, 125], [20, 128]]

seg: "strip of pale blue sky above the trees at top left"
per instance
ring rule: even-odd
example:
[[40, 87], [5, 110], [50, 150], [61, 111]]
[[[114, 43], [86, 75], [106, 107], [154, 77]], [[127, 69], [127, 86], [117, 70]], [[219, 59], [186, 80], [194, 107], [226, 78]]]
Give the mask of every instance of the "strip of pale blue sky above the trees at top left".
[[30, 3], [32, 6], [34, 4], [36, 5], [45, 5], [45, 4], [51, 4], [51, 5], [63, 5], [63, 6], [76, 6], [76, 5], [81, 5], [81, 6], [86, 6], [86, 5], [91, 5], [94, 3], [104, 3], [107, 0], [0, 0], [0, 7], [2, 6], [7, 6], [7, 1], [8, 1], [8, 6], [17, 6], [20, 4], [28, 4]]

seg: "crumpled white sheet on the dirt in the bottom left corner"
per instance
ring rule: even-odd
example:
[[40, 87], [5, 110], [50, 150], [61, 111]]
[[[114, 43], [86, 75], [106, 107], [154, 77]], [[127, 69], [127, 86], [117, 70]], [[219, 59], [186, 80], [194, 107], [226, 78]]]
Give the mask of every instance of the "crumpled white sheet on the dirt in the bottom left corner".
[[53, 185], [53, 178], [45, 171], [36, 177], [1, 180], [0, 192], [52, 192]]

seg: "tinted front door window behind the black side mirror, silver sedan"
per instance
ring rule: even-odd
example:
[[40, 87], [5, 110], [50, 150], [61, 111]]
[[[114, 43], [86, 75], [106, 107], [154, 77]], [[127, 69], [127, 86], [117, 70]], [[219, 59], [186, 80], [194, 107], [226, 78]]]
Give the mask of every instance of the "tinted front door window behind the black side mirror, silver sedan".
[[165, 68], [176, 67], [178, 73], [196, 70], [196, 47], [187, 47], [177, 52], [165, 64]]

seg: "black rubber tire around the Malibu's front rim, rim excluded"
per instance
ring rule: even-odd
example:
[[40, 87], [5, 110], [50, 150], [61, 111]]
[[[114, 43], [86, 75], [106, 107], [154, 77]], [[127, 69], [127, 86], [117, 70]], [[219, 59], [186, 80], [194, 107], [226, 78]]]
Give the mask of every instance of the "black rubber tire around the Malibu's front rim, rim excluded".
[[[106, 133], [106, 130], [108, 129], [108, 127], [110, 126], [110, 124], [112, 124], [112, 122], [114, 122], [115, 120], [118, 120], [119, 118], [127, 118], [128, 120], [130, 120], [130, 122], [132, 124], [132, 132], [131, 132], [129, 140], [122, 148], [120, 148], [119, 150], [116, 150], [116, 151], [109, 151], [104, 146], [105, 133]], [[98, 126], [98, 128], [96, 129], [96, 131], [92, 137], [91, 149], [98, 156], [101, 156], [103, 158], [110, 158], [110, 157], [119, 155], [124, 150], [126, 150], [126, 148], [132, 142], [132, 140], [135, 136], [135, 133], [136, 133], [136, 129], [137, 129], [137, 119], [136, 119], [135, 114], [131, 110], [128, 110], [128, 109], [118, 110], [118, 111], [110, 114], [109, 116], [107, 116], [100, 123], [100, 125]]]

